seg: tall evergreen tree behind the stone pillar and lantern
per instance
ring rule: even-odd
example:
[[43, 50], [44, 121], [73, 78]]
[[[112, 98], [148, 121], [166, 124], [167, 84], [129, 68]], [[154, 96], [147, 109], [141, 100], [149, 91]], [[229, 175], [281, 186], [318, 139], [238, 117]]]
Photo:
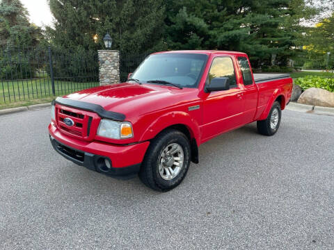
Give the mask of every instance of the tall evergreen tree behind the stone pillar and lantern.
[[[55, 75], [76, 76], [82, 68], [80, 63], [96, 75], [94, 55], [97, 49], [104, 49], [107, 32], [113, 38], [111, 49], [123, 55], [143, 54], [141, 58], [145, 58], [148, 51], [164, 49], [162, 0], [49, 0], [49, 6], [55, 22], [46, 33], [57, 53]], [[121, 74], [127, 75], [128, 67], [136, 66], [134, 62], [122, 62]]]

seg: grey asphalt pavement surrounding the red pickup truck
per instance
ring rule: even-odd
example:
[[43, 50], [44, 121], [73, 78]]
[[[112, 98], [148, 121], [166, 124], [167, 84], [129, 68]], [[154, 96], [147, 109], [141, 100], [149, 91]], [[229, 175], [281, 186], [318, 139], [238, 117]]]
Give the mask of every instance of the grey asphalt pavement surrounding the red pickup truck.
[[0, 249], [334, 249], [333, 116], [225, 133], [159, 193], [58, 155], [49, 113], [0, 117]]

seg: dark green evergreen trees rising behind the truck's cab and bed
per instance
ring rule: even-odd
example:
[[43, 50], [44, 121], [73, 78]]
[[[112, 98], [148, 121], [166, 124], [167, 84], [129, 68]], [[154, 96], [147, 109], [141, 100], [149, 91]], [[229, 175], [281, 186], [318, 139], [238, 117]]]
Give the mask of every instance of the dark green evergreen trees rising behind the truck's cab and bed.
[[304, 0], [167, 0], [169, 49], [244, 51], [255, 67], [285, 65], [294, 55], [301, 18], [316, 8]]

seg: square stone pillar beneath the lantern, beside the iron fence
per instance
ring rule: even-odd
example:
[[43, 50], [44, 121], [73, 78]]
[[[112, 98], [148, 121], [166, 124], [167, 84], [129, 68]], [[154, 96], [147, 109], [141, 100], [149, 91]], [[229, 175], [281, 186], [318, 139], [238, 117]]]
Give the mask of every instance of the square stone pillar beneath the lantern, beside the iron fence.
[[100, 85], [120, 83], [120, 51], [99, 50]]

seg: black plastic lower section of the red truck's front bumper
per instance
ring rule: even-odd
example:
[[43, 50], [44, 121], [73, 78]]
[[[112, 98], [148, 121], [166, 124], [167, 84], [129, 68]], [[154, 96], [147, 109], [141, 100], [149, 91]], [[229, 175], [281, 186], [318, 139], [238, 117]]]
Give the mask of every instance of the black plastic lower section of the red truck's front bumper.
[[[51, 135], [49, 135], [49, 138], [50, 138], [52, 147], [54, 147], [54, 150], [56, 150], [56, 152], [59, 153], [61, 156], [63, 156], [67, 160], [72, 161], [72, 163], [86, 167], [90, 170], [99, 172], [101, 174], [106, 174], [107, 176], [111, 176], [113, 178], [129, 179], [129, 178], [136, 176], [136, 174], [138, 174], [139, 170], [141, 169], [141, 163], [138, 163], [136, 165], [131, 165], [127, 167], [111, 167], [111, 169], [108, 172], [105, 172], [105, 171], [102, 172], [99, 168], [99, 164], [100, 164], [99, 162], [101, 158], [103, 159], [107, 158], [106, 156], [98, 156], [93, 153], [87, 153], [87, 152], [84, 152], [78, 149], [74, 149], [61, 142], [58, 142]], [[76, 158], [73, 158], [72, 156], [65, 153], [65, 151], [62, 151], [61, 147], [65, 147], [67, 149], [71, 149], [72, 151], [76, 151], [77, 153], [84, 154], [84, 160], [78, 160]], [[111, 166], [112, 166], [112, 160], [110, 158], [107, 158], [107, 159], [109, 159]]]

